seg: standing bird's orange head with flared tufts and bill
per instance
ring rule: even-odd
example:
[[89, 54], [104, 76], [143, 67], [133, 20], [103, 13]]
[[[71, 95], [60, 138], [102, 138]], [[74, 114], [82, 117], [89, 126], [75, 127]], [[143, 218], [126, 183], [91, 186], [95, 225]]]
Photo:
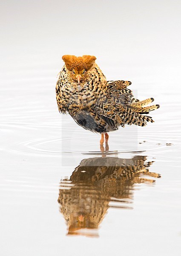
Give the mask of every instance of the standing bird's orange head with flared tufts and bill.
[[94, 67], [96, 60], [95, 56], [91, 55], [83, 55], [82, 57], [63, 55], [62, 59], [65, 62], [69, 76], [73, 81], [77, 81], [78, 84], [86, 80], [87, 73]]

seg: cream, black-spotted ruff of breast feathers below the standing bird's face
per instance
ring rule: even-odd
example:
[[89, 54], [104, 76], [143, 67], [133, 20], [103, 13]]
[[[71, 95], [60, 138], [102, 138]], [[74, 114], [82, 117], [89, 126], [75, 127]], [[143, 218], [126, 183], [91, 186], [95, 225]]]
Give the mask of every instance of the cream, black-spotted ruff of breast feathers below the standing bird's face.
[[100, 76], [97, 68], [93, 69], [87, 79], [81, 81], [80, 84], [72, 81], [62, 70], [56, 87], [59, 108], [63, 107], [69, 111], [75, 107], [85, 109], [98, 104], [106, 96], [106, 84], [105, 77]]

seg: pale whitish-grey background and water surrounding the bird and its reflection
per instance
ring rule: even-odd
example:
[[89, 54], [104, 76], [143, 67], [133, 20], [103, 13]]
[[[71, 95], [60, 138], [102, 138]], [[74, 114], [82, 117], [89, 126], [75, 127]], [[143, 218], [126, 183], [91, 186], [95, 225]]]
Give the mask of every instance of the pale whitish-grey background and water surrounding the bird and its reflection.
[[[0, 254], [180, 255], [181, 1], [1, 0], [0, 20]], [[111, 209], [100, 239], [66, 237], [58, 210], [60, 178], [100, 139], [58, 113], [64, 54], [95, 55], [108, 80], [132, 81], [139, 98], [161, 105], [155, 124], [139, 129], [138, 142], [147, 143], [138, 146], [162, 178], [135, 192], [134, 211]], [[112, 133], [110, 149], [123, 149], [131, 129]], [[73, 164], [62, 168], [61, 146], [73, 131], [71, 154], [63, 154]]]

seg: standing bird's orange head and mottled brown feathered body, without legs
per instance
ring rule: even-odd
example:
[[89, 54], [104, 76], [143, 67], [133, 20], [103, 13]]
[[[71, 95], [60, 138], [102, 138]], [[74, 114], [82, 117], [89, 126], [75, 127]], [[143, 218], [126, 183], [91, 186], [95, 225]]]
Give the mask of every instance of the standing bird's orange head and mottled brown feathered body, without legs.
[[129, 81], [107, 81], [95, 63], [95, 56], [76, 57], [64, 55], [65, 65], [60, 71], [56, 85], [59, 111], [69, 113], [84, 129], [106, 133], [119, 126], [145, 126], [154, 122], [143, 114], [159, 108], [147, 106], [153, 98], [139, 101], [127, 87]]

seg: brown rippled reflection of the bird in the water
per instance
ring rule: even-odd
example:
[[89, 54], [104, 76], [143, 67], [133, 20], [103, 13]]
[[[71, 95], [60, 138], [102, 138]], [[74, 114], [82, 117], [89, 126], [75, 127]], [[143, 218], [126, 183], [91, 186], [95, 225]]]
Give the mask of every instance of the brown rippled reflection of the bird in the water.
[[69, 235], [98, 236], [98, 226], [109, 207], [132, 209], [134, 186], [154, 183], [149, 177], [153, 162], [145, 156], [131, 159], [94, 157], [83, 159], [70, 179], [60, 182], [58, 203]]

